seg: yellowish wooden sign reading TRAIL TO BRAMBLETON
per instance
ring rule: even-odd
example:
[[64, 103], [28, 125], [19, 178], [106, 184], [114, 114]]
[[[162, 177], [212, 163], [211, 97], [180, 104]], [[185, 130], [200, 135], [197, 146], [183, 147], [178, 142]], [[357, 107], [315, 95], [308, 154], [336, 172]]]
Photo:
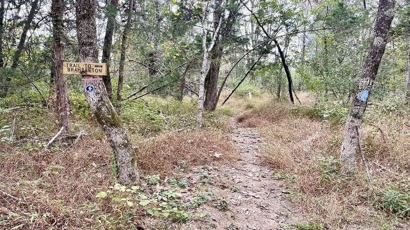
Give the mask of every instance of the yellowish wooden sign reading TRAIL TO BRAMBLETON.
[[107, 76], [107, 63], [63, 62], [63, 74]]

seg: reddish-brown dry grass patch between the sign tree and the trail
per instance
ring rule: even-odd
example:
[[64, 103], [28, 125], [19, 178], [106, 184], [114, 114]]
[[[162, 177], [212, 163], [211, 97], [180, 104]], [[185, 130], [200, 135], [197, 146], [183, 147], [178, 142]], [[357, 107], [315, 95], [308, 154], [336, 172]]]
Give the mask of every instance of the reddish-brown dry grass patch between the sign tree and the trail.
[[[176, 169], [222, 163], [237, 157], [227, 136], [214, 131], [172, 132], [140, 141], [135, 148], [139, 169], [148, 174], [170, 175]], [[215, 154], [222, 154], [216, 157]]]

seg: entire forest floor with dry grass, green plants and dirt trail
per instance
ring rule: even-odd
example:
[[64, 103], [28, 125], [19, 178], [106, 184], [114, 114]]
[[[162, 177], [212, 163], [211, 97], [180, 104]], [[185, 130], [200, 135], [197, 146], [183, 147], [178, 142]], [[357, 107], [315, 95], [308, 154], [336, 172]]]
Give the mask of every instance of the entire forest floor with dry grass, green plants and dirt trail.
[[201, 130], [195, 101], [129, 104], [122, 118], [141, 173], [132, 187], [118, 184], [91, 118], [73, 118], [83, 137], [45, 148], [58, 130], [43, 118], [54, 113], [0, 113], [16, 121], [15, 140], [1, 143], [0, 229], [410, 229], [408, 114], [366, 111], [369, 182], [361, 164], [339, 174], [345, 108], [300, 98], [235, 98], [205, 114]]

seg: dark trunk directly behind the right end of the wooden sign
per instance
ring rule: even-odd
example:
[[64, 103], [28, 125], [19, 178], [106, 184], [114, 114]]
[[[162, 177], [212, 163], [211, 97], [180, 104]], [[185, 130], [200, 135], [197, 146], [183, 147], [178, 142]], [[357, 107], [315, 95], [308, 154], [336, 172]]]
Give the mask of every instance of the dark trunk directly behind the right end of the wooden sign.
[[118, 11], [118, 0], [111, 0], [107, 5], [107, 27], [106, 35], [104, 37], [103, 45], [103, 57], [101, 62], [107, 63], [107, 76], [103, 76], [103, 82], [106, 86], [108, 98], [112, 101], [112, 87], [111, 87], [111, 76], [110, 76], [110, 56], [112, 48], [112, 36], [114, 34], [115, 28], [115, 17], [117, 16]]

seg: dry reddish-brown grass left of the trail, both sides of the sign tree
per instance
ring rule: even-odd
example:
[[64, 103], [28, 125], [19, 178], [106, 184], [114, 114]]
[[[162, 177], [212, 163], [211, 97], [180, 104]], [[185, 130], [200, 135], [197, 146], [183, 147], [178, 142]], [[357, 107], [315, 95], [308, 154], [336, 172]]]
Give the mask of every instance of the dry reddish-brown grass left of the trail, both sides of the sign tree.
[[[11, 119], [16, 116], [8, 115]], [[31, 121], [30, 116], [38, 114], [25, 114], [24, 119], [16, 120]], [[75, 119], [72, 122], [76, 126], [83, 122]], [[219, 118], [212, 119], [217, 123]], [[139, 137], [134, 146], [139, 147], [140, 172], [172, 177], [174, 169], [217, 165], [235, 158], [228, 137], [216, 131], [219, 129], [212, 127], [213, 123], [207, 124], [209, 129], [203, 133], [174, 131], [146, 141]], [[138, 196], [132, 197], [133, 207], [96, 197], [118, 181], [111, 148], [95, 123], [87, 120], [80, 126], [89, 135], [71, 148], [68, 146], [73, 140], [55, 141], [48, 150], [44, 144], [49, 139], [41, 136], [54, 135], [53, 124], [33, 124], [29, 134], [20, 130], [22, 127], [31, 126], [16, 123], [17, 140], [0, 143], [0, 229], [136, 229], [136, 221], [146, 215], [146, 210], [137, 206]], [[31, 130], [42, 132], [33, 134]], [[222, 156], [213, 156], [215, 152]], [[151, 192], [145, 189], [140, 192]]]

